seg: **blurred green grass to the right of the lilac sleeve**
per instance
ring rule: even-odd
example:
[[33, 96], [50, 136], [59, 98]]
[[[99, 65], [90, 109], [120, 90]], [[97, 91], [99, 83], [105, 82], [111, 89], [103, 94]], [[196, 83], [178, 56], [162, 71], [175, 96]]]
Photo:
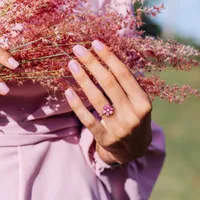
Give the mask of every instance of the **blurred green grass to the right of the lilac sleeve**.
[[[161, 76], [200, 89], [200, 69]], [[182, 105], [157, 99], [153, 106], [153, 120], [165, 131], [167, 157], [150, 200], [199, 200], [200, 99], [190, 97]]]

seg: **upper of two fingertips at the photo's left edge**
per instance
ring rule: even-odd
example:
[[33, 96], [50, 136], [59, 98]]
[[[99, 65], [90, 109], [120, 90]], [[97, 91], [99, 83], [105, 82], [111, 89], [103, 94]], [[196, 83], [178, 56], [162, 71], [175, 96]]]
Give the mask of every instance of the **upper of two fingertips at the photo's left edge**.
[[19, 63], [2, 47], [0, 47], [0, 64], [10, 69], [16, 69]]

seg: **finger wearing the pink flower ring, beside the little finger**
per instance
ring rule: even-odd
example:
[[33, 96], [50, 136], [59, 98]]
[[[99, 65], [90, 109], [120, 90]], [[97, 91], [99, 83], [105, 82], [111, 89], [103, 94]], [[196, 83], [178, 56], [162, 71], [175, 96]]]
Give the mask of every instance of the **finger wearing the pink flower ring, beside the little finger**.
[[[96, 111], [99, 114], [101, 114], [103, 112], [103, 106], [109, 104], [109, 101], [106, 99], [103, 93], [97, 88], [97, 86], [92, 82], [88, 74], [76, 60], [71, 60], [68, 66], [74, 79], [83, 89], [90, 103], [94, 106]], [[106, 117], [103, 115], [102, 118], [104, 119]]]

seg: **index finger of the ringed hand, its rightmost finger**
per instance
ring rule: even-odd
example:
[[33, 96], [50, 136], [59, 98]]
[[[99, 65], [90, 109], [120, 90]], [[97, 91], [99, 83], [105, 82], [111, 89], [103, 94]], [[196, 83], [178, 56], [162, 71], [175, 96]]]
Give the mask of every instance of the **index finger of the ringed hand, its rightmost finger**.
[[[114, 76], [128, 95], [131, 102], [140, 103], [147, 94], [140, 87], [126, 65], [108, 47], [98, 40], [92, 42], [92, 47], [102, 61], [111, 69]], [[143, 99], [144, 100], [144, 99]]]

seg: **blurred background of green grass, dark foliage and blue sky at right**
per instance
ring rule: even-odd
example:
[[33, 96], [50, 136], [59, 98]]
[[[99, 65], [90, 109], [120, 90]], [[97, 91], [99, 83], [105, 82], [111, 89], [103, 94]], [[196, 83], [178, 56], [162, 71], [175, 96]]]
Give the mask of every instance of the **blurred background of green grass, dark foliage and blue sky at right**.
[[[172, 23], [170, 24], [166, 17], [163, 17], [164, 21], [157, 21], [144, 16], [145, 25], [142, 29], [147, 35], [172, 38], [200, 49], [200, 34], [198, 37], [196, 33], [194, 37], [191, 32], [196, 30], [190, 30], [192, 23], [194, 27], [195, 23], [196, 27], [199, 27], [200, 14], [191, 14], [193, 10], [181, 10], [184, 8], [184, 2], [188, 3], [186, 1], [179, 1], [178, 5], [171, 0], [168, 8], [169, 0], [148, 0], [146, 4], [167, 4], [165, 7], [171, 9], [168, 11], [168, 17]], [[176, 7], [173, 7], [173, 2], [174, 6], [176, 2]], [[192, 3], [200, 6], [199, 0], [190, 0], [188, 4], [194, 7]], [[137, 4], [136, 7], [138, 6], [140, 5]], [[191, 18], [191, 23], [184, 23], [184, 17], [188, 21]], [[180, 27], [184, 27], [185, 32], [180, 32]], [[162, 72], [161, 77], [168, 83], [187, 83], [200, 89], [200, 66], [190, 72]], [[153, 121], [165, 132], [167, 156], [150, 200], [200, 200], [200, 99], [190, 97], [181, 105], [156, 99], [153, 102]]]

